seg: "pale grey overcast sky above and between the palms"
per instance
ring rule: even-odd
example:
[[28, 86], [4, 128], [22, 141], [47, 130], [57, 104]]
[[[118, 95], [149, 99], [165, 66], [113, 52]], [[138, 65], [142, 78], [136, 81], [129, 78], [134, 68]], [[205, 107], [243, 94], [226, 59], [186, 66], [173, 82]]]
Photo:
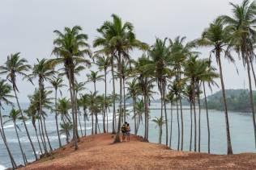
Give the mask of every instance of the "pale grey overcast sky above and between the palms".
[[[231, 0], [1, 0], [0, 2], [0, 64], [4, 64], [6, 56], [21, 52], [21, 56], [34, 64], [36, 58], [53, 58], [54, 30], [63, 31], [64, 27], [79, 25], [83, 33], [89, 36], [88, 43], [92, 46], [93, 39], [98, 35], [96, 28], [112, 14], [119, 15], [123, 21], [134, 24], [137, 39], [153, 44], [156, 37], [164, 39], [186, 36], [187, 40], [200, 37], [219, 15], [231, 15]], [[241, 3], [234, 0], [233, 3]], [[209, 56], [209, 49], [198, 48], [200, 57]], [[93, 48], [92, 48], [93, 51]], [[131, 52], [133, 58], [141, 56], [141, 52]], [[224, 83], [226, 89], [243, 89], [248, 87], [247, 74], [237, 56], [237, 75], [234, 64], [223, 61]], [[217, 65], [213, 63], [215, 67]], [[92, 67], [97, 70], [96, 67]], [[81, 73], [79, 81], [87, 81], [86, 73]], [[0, 76], [5, 78], [3, 76]], [[220, 85], [220, 81], [216, 80]], [[108, 81], [108, 92], [112, 91]], [[34, 87], [18, 77], [19, 100], [28, 102], [28, 94]], [[97, 90], [104, 92], [103, 82], [97, 83]], [[87, 84], [92, 90], [92, 84]], [[213, 92], [219, 90], [214, 88]], [[67, 90], [63, 90], [64, 95]], [[207, 89], [207, 94], [211, 91]]]

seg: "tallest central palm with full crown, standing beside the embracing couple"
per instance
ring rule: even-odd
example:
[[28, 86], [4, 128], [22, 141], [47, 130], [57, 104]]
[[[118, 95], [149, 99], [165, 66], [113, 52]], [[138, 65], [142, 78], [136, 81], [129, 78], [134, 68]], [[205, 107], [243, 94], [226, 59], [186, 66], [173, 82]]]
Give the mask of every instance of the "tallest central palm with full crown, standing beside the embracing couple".
[[[106, 21], [98, 31], [103, 35], [101, 44], [108, 46], [108, 52], [117, 60], [117, 70], [120, 83], [119, 110], [122, 110], [122, 60], [130, 61], [129, 52], [134, 48], [147, 48], [146, 44], [139, 42], [134, 34], [134, 27], [131, 23], [122, 23], [117, 15], [112, 15], [113, 22]], [[99, 39], [98, 43], [99, 44]], [[100, 45], [101, 45], [100, 44]], [[106, 52], [104, 48], [103, 51]], [[118, 118], [117, 135], [115, 143], [120, 142], [121, 117]]]

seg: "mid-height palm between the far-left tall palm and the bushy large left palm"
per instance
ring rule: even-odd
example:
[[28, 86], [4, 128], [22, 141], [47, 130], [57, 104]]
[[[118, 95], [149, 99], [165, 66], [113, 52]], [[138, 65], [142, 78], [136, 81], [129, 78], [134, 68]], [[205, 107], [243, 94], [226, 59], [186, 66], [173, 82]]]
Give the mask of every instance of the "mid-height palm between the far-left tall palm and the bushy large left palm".
[[[28, 79], [32, 81], [32, 79], [38, 78], [38, 86], [39, 86], [39, 115], [40, 119], [42, 121], [43, 118], [43, 104], [42, 100], [43, 98], [43, 93], [45, 91], [45, 85], [44, 81], [51, 81], [51, 77], [55, 73], [49, 63], [49, 60], [42, 59], [42, 60], [37, 60], [37, 64], [34, 64], [32, 68], [32, 74], [28, 75]], [[53, 148], [51, 147], [51, 144], [49, 142], [49, 137], [45, 131], [46, 138], [49, 143], [49, 148], [50, 151], [53, 151]]]

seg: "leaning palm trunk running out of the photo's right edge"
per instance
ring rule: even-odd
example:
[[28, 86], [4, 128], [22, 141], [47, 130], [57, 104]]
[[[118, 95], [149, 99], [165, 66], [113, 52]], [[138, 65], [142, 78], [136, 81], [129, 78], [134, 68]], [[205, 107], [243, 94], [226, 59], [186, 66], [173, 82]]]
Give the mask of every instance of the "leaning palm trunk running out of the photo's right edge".
[[252, 90], [252, 84], [251, 84], [251, 77], [250, 77], [250, 63], [249, 63], [249, 56], [247, 55], [245, 60], [247, 64], [247, 74], [248, 74], [248, 80], [249, 80], [249, 88], [250, 88], [250, 107], [253, 114], [253, 123], [254, 123], [254, 143], [256, 147], [256, 123], [255, 123], [255, 112], [254, 112], [254, 96], [253, 96], [253, 90]]

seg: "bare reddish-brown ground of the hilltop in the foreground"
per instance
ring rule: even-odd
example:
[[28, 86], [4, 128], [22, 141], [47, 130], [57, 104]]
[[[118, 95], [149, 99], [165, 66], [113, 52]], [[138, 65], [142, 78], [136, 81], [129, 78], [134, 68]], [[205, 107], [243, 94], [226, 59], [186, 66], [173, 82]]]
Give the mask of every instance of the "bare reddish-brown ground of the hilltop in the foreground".
[[48, 158], [21, 169], [256, 169], [256, 154], [209, 155], [173, 151], [163, 145], [140, 142], [113, 144], [113, 135], [93, 135], [54, 151]]

